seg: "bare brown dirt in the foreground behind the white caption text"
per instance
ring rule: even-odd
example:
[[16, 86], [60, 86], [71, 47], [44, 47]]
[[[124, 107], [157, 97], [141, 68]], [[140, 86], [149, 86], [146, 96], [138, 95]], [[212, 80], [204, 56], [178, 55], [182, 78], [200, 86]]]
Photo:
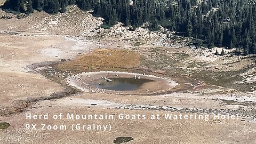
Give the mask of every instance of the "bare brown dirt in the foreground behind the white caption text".
[[[93, 94], [95, 96], [95, 94]], [[104, 95], [98, 95], [106, 96]], [[118, 100], [118, 95], [109, 95], [112, 99]], [[81, 96], [80, 96], [81, 97]], [[90, 98], [88, 94], [83, 98]], [[105, 97], [107, 98], [107, 97]], [[140, 103], [142, 99], [150, 100], [150, 97], [142, 97], [138, 100], [131, 100], [127, 96], [121, 97], [122, 103], [126, 104], [126, 100], [132, 103]], [[69, 98], [70, 102], [71, 99]], [[102, 98], [100, 98], [102, 99]], [[153, 98], [156, 101], [162, 98]], [[86, 100], [86, 99], [85, 99]], [[66, 101], [66, 100], [65, 100]], [[79, 100], [81, 101], [81, 99]], [[119, 100], [118, 100], [119, 101]], [[75, 114], [113, 114], [117, 117], [119, 114], [129, 115], [146, 115], [145, 120], [76, 120], [71, 121], [66, 118], [54, 120], [28, 120], [25, 118], [26, 113], [31, 114], [53, 114], [67, 113]], [[3, 131], [0, 131], [1, 143], [113, 143], [116, 137], [133, 137], [134, 140], [129, 143], [254, 143], [253, 135], [255, 134], [255, 125], [253, 123], [245, 123], [237, 120], [214, 121], [209, 122], [202, 120], [150, 120], [151, 115], [159, 114], [163, 116], [167, 112], [163, 111], [145, 111], [145, 110], [128, 110], [128, 109], [109, 109], [102, 106], [79, 106], [78, 103], [67, 103], [63, 99], [39, 102], [33, 109], [13, 116], [2, 117], [2, 120], [9, 122], [11, 126]], [[186, 114], [186, 113], [173, 113]], [[25, 130], [25, 124], [37, 124], [40, 128], [41, 124], [47, 125], [67, 125], [68, 130]], [[110, 132], [102, 131], [71, 131], [72, 124], [111, 124]], [[20, 135], [23, 137], [20, 137]], [[75, 135], [75, 138], [74, 138]], [[6, 138], [9, 138], [8, 140]], [[19, 139], [18, 139], [19, 138]]]

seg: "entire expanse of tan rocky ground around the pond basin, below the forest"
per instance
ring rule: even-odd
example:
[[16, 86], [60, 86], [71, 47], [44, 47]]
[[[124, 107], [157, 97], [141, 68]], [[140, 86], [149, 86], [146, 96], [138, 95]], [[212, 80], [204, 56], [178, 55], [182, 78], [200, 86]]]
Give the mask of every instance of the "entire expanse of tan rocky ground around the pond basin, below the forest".
[[[103, 29], [101, 23], [75, 6], [66, 14], [0, 19], [0, 143], [256, 143], [253, 57], [195, 49], [187, 38], [164, 29], [129, 31], [120, 23]], [[101, 70], [146, 73], [178, 85], [164, 93], [126, 95], [83, 92], [67, 81]], [[26, 119], [46, 113], [107, 113], [115, 119]], [[210, 118], [163, 118], [167, 113]], [[119, 114], [136, 116], [120, 119]], [[150, 119], [157, 114], [162, 118]], [[214, 119], [214, 114], [239, 116]], [[37, 124], [37, 130], [26, 130], [28, 124]], [[67, 130], [43, 130], [41, 124]], [[73, 124], [112, 128], [72, 131]]]

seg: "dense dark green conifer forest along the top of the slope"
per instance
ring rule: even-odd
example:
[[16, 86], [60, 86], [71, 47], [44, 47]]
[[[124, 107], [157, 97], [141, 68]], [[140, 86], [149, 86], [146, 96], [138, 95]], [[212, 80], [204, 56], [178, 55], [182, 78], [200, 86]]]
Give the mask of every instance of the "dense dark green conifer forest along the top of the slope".
[[256, 1], [254, 0], [9, 0], [4, 10], [50, 14], [65, 13], [68, 5], [93, 10], [104, 25], [117, 22], [131, 30], [149, 22], [149, 29], [159, 25], [193, 39], [195, 45], [228, 47], [237, 54], [256, 53]]

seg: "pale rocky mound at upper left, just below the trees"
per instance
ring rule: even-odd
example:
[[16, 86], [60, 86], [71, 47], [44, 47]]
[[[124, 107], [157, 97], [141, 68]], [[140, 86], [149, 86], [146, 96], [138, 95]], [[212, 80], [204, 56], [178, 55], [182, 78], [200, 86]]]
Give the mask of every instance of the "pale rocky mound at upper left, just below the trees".
[[[6, 13], [0, 9], [0, 17]], [[11, 14], [13, 15], [13, 14]], [[72, 5], [67, 7], [66, 13], [47, 14], [46, 12], [35, 12], [26, 18], [16, 19], [15, 14], [12, 19], [2, 20], [0, 31], [27, 31], [38, 34], [58, 34], [77, 36], [81, 33], [88, 34], [101, 25], [101, 19], [95, 18], [89, 12], [78, 9]]]

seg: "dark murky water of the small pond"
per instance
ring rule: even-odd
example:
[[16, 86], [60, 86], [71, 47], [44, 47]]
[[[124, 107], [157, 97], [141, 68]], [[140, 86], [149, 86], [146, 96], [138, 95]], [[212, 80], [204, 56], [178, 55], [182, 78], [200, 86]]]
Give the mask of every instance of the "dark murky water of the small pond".
[[105, 79], [99, 79], [93, 85], [99, 89], [115, 90], [115, 91], [133, 91], [139, 89], [139, 87], [148, 82], [154, 82], [151, 79], [146, 78], [126, 78], [115, 77], [109, 78], [111, 82], [105, 81]]

